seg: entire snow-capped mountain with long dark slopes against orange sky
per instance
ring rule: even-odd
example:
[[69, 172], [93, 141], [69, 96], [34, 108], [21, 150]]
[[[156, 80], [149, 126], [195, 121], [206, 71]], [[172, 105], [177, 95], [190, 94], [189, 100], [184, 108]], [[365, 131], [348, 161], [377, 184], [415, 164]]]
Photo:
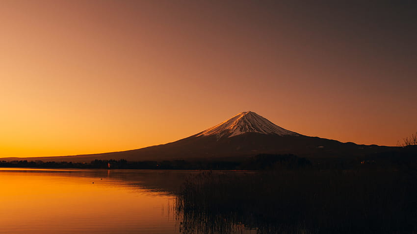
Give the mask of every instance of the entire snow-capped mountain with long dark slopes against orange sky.
[[234, 117], [188, 138], [141, 149], [60, 157], [3, 158], [0, 160], [42, 160], [90, 162], [95, 159], [128, 161], [236, 160], [260, 153], [295, 154], [303, 157], [354, 157], [388, 151], [396, 147], [342, 143], [304, 136], [284, 129], [255, 112]]

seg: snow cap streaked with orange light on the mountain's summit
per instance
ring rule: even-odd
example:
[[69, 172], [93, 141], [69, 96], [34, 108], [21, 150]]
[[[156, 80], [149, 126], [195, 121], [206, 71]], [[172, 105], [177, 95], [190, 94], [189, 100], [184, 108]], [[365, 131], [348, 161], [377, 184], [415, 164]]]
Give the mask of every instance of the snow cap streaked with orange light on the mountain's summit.
[[243, 133], [300, 136], [298, 133], [288, 131], [287, 129], [275, 125], [268, 119], [261, 117], [255, 112], [246, 111], [241, 112], [234, 117], [197, 134], [196, 137], [211, 135], [216, 135], [218, 138], [223, 136], [233, 137]]

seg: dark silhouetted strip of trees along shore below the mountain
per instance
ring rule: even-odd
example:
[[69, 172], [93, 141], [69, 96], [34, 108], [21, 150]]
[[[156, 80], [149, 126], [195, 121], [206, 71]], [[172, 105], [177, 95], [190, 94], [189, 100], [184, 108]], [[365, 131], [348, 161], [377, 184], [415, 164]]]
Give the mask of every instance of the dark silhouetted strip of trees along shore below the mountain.
[[165, 170], [298, 170], [298, 169], [358, 169], [390, 168], [397, 170], [417, 168], [417, 146], [410, 145], [395, 151], [374, 153], [356, 158], [305, 159], [291, 154], [259, 154], [244, 160], [173, 160], [139, 161], [99, 160], [91, 163], [12, 161], [0, 162], [0, 167], [50, 167], [50, 168], [108, 168], [110, 169], [165, 169]]

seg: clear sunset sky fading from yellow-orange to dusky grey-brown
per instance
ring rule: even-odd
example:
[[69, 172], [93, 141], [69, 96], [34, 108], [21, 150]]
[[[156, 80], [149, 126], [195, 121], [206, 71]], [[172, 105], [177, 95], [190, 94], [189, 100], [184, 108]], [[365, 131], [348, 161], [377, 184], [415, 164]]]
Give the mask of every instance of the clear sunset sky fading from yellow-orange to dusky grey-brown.
[[416, 1], [1, 0], [0, 157], [137, 149], [242, 111], [395, 146], [417, 131]]

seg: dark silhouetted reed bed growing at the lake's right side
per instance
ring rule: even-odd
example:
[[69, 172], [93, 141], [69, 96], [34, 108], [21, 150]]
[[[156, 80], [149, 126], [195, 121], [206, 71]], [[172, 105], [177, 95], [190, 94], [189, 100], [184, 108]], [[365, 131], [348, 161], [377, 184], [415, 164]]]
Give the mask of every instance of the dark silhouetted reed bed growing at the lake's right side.
[[203, 172], [176, 204], [184, 233], [417, 231], [417, 173], [391, 169]]

